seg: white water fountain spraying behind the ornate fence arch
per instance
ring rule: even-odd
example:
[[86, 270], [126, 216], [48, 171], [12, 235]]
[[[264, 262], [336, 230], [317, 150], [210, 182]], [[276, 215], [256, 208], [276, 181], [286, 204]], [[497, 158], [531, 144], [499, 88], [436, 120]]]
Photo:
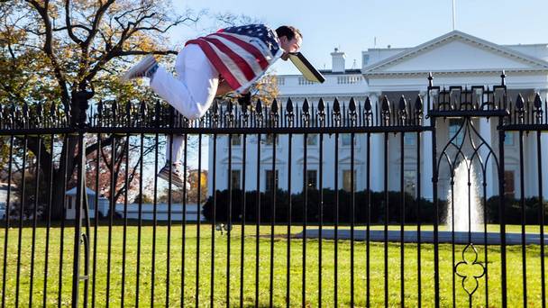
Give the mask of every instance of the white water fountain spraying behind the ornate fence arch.
[[483, 231], [481, 227], [483, 212], [479, 199], [478, 178], [474, 165], [469, 159], [461, 160], [455, 169], [453, 181], [454, 192], [450, 189], [447, 194], [448, 206], [445, 222], [449, 230]]

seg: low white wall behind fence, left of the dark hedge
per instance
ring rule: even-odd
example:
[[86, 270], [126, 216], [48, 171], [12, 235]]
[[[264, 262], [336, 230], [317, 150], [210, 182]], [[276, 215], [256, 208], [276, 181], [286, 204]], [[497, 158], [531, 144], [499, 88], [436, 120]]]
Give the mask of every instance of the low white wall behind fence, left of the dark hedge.
[[[171, 204], [171, 221], [181, 222], [183, 220], [183, 204]], [[187, 204], [186, 205], [186, 215], [185, 220], [187, 222], [197, 222], [198, 217], [198, 205], [197, 204]], [[127, 218], [128, 219], [139, 219], [139, 204], [127, 204]], [[116, 213], [120, 217], [124, 217], [124, 205], [116, 204]], [[168, 204], [156, 204], [156, 220], [157, 221], [167, 221], [169, 213]], [[141, 218], [143, 221], [154, 220], [154, 204], [142, 204], [141, 208]], [[200, 222], [204, 222], [204, 214], [200, 213]]]

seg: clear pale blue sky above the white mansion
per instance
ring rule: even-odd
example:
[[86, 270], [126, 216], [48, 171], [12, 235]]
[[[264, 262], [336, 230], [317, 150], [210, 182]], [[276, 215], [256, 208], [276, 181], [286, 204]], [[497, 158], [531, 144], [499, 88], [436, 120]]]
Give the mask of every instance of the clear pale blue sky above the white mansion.
[[[333, 49], [346, 53], [346, 66], [361, 67], [361, 51], [415, 47], [452, 31], [452, 0], [173, 0], [179, 14], [187, 9], [210, 14], [243, 14], [272, 28], [296, 26], [304, 36], [301, 51], [317, 68], [331, 68]], [[455, 29], [497, 44], [548, 43], [548, 0], [455, 0]], [[213, 32], [203, 19], [170, 33], [172, 42]], [[376, 44], [375, 44], [376, 42]], [[297, 74], [278, 61], [278, 74]], [[207, 166], [207, 142], [203, 161]]]

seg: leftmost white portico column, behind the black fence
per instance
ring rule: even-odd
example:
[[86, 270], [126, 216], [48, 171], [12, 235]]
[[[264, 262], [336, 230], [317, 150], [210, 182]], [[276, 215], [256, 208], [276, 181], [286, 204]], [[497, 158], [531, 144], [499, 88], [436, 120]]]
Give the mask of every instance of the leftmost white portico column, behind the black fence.
[[[370, 102], [373, 112], [375, 110], [379, 111], [379, 93], [370, 93]], [[378, 108], [375, 108], [378, 106]], [[373, 116], [373, 121], [376, 121], [375, 114]], [[370, 143], [370, 181], [371, 181], [371, 190], [374, 192], [380, 192], [384, 190], [384, 159], [387, 153], [384, 153], [384, 134], [383, 133], [374, 133], [371, 134], [371, 143]]]

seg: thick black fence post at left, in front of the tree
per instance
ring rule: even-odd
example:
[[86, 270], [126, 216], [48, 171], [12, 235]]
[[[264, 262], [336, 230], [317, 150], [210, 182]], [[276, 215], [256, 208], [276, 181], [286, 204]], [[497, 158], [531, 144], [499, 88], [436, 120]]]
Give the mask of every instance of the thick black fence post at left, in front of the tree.
[[[86, 140], [84, 134], [87, 126], [87, 108], [88, 100], [93, 97], [93, 91], [82, 89], [72, 93], [72, 104], [78, 107], [77, 121], [75, 128], [78, 133], [78, 186], [77, 186], [77, 204], [76, 217], [74, 222], [74, 258], [72, 267], [72, 307], [78, 307], [79, 300], [79, 282], [84, 280], [84, 307], [87, 306], [87, 289], [89, 285], [88, 267], [89, 267], [89, 215], [87, 211], [86, 194]], [[82, 232], [82, 209], [86, 214], [86, 232]], [[80, 276], [80, 245], [84, 244], [85, 264], [84, 276]]]

